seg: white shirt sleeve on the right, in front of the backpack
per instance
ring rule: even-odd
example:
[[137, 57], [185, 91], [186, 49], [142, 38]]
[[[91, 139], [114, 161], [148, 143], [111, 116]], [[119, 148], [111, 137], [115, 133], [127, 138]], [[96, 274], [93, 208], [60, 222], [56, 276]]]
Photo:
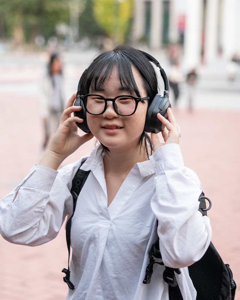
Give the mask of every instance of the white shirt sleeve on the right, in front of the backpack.
[[189, 266], [201, 259], [211, 241], [209, 218], [198, 211], [202, 185], [184, 167], [177, 144], [160, 147], [149, 159], [156, 172], [151, 208], [158, 219], [163, 262], [172, 268]]

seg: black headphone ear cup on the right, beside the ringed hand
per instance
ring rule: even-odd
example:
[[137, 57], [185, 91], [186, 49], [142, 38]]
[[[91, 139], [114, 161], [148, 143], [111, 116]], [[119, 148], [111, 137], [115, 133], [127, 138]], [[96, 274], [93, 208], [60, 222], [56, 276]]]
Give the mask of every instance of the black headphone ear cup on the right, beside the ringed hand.
[[158, 119], [157, 114], [160, 113], [167, 119], [166, 114], [168, 107], [171, 107], [168, 96], [161, 96], [159, 94], [155, 95], [146, 113], [144, 131], [154, 133], [161, 132], [165, 128], [165, 126]]

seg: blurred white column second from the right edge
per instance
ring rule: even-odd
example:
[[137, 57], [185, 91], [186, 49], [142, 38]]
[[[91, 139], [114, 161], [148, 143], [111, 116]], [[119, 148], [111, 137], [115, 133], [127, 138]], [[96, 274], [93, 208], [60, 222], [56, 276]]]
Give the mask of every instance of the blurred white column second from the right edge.
[[207, 0], [205, 27], [205, 61], [210, 63], [217, 56], [218, 0]]

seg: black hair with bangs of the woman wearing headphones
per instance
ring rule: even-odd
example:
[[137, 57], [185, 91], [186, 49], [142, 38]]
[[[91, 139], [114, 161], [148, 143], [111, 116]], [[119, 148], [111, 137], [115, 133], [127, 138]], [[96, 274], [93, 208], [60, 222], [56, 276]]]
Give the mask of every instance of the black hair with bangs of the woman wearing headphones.
[[[154, 96], [158, 93], [158, 79], [153, 65], [148, 58], [138, 49], [129, 46], [118, 46], [113, 50], [100, 53], [83, 72], [78, 91], [80, 95], [87, 95], [89, 90], [98, 91], [103, 88], [109, 79], [114, 67], [117, 69], [121, 86], [130, 92], [135, 92], [137, 97], [140, 95], [139, 89], [132, 72], [134, 66], [143, 79], [143, 85], [147, 96], [150, 98], [148, 105], [151, 104]], [[149, 135], [143, 131], [138, 146], [142, 146], [148, 152], [148, 144], [153, 152], [152, 143]], [[103, 150], [109, 152], [109, 149], [101, 143]]]

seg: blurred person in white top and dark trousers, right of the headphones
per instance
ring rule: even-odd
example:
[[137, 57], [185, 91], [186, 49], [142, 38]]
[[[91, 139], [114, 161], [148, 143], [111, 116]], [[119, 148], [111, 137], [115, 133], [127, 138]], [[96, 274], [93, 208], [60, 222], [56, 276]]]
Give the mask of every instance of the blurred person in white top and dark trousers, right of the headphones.
[[170, 76], [169, 76], [169, 85], [170, 91], [173, 91], [174, 95], [174, 104], [177, 105], [177, 101], [179, 98], [179, 83], [184, 81], [184, 74], [181, 70], [180, 64], [178, 60], [173, 61]]

